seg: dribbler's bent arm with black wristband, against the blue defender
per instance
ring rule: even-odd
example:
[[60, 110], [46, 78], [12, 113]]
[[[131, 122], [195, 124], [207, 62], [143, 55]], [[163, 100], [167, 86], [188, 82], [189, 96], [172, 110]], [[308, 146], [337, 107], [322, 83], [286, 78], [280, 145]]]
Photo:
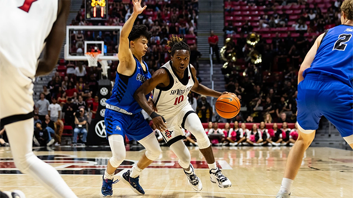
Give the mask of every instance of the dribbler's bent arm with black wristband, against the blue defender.
[[158, 85], [162, 87], [167, 87], [169, 85], [169, 75], [164, 69], [158, 69], [154, 72], [153, 76], [135, 91], [134, 98], [140, 107], [151, 116], [156, 128], [165, 131], [167, 130], [167, 127], [165, 126], [164, 118], [152, 110], [146, 99], [146, 95], [151, 93], [151, 91]]

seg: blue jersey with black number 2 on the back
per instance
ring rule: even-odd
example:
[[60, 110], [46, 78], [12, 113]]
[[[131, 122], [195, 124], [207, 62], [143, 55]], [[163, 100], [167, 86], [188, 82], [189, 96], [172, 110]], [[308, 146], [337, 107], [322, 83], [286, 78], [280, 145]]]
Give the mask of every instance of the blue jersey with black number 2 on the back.
[[326, 75], [353, 88], [353, 26], [338, 25], [329, 29], [316, 52], [308, 73]]

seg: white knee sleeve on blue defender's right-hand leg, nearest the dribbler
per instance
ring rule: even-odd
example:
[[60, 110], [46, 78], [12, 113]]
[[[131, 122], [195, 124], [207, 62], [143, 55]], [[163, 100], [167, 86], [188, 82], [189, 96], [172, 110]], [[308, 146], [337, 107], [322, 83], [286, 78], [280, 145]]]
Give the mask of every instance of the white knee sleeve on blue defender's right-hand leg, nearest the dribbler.
[[139, 140], [138, 142], [146, 148], [146, 157], [152, 161], [157, 159], [158, 156], [162, 153], [154, 133], [149, 134], [147, 137]]

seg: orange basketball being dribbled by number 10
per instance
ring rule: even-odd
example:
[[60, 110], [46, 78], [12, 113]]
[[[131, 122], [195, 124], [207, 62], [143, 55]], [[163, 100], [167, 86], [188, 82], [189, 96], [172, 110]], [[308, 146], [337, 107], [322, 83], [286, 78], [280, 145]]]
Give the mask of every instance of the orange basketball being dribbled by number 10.
[[216, 102], [216, 111], [226, 119], [235, 117], [240, 111], [239, 98], [231, 94], [221, 95]]

